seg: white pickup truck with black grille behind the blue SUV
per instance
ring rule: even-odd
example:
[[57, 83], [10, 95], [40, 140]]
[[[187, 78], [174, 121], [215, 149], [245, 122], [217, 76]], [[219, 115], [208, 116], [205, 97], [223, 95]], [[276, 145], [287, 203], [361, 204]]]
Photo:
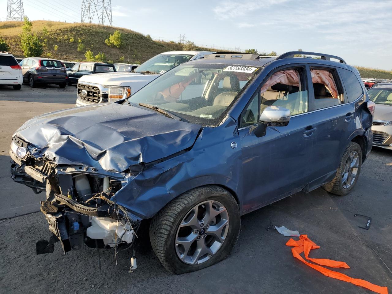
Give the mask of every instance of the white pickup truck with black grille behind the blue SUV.
[[135, 93], [169, 69], [211, 53], [213, 52], [164, 52], [147, 60], [130, 73], [99, 73], [82, 76], [78, 81], [76, 106], [113, 102], [128, 98], [132, 93]]

